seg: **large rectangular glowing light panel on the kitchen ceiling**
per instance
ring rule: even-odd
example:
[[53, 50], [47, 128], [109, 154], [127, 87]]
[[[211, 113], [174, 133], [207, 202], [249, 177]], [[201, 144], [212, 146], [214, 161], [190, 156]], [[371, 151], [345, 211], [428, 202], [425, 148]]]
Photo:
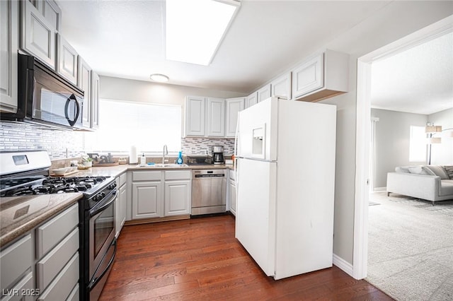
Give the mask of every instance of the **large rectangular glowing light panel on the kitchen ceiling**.
[[166, 59], [208, 66], [241, 3], [166, 0]]

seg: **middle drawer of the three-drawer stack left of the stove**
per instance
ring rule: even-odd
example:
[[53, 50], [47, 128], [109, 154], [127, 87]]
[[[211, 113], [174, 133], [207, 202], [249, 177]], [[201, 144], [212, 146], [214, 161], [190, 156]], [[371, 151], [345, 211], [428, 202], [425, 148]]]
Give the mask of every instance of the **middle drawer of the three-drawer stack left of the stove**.
[[43, 291], [79, 249], [79, 228], [74, 229], [57, 247], [36, 264], [36, 285]]

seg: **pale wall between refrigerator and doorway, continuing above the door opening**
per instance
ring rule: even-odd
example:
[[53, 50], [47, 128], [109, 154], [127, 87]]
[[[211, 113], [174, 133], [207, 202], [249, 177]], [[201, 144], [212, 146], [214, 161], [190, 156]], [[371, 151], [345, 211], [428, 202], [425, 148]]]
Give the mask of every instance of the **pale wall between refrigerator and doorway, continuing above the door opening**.
[[333, 253], [348, 264], [354, 249], [357, 59], [452, 14], [453, 1], [392, 1], [325, 46], [350, 54], [350, 92], [323, 100], [338, 106]]

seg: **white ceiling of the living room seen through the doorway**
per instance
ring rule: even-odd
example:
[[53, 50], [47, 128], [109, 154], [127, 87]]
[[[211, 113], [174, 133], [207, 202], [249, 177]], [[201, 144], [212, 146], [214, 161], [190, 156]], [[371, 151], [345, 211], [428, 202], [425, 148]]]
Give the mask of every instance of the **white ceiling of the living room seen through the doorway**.
[[372, 64], [372, 107], [432, 114], [453, 107], [453, 33]]

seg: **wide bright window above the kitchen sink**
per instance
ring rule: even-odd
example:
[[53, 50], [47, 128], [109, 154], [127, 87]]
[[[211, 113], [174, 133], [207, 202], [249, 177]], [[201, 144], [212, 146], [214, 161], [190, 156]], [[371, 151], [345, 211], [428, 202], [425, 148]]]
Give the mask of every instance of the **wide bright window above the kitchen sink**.
[[99, 129], [85, 136], [85, 149], [96, 153], [162, 153], [181, 148], [181, 106], [99, 100]]

